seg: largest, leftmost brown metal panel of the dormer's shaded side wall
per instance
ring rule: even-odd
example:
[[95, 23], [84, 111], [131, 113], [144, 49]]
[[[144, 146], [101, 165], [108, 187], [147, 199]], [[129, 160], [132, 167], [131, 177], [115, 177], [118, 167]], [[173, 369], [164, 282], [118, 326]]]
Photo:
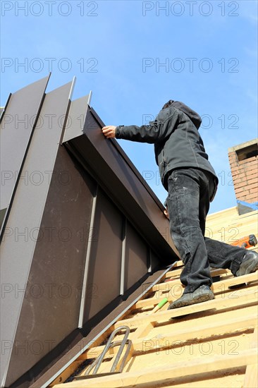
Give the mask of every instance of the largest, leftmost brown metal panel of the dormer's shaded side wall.
[[9, 367], [16, 373], [78, 327], [94, 190], [90, 176], [59, 146]]

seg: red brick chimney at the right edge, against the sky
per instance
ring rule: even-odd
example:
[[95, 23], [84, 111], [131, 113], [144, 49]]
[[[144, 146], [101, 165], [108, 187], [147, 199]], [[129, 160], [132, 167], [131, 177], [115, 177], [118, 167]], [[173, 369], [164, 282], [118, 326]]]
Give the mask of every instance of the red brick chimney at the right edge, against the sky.
[[[228, 149], [229, 164], [240, 214], [257, 209], [258, 201], [257, 139]], [[250, 208], [248, 210], [248, 207]], [[243, 209], [245, 211], [243, 211]]]

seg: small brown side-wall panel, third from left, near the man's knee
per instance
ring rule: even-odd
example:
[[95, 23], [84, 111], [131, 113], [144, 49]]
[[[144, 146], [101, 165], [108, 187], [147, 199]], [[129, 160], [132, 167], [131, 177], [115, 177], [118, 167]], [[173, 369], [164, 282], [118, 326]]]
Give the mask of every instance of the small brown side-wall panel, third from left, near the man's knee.
[[147, 274], [148, 260], [149, 248], [128, 222], [125, 243], [125, 291]]

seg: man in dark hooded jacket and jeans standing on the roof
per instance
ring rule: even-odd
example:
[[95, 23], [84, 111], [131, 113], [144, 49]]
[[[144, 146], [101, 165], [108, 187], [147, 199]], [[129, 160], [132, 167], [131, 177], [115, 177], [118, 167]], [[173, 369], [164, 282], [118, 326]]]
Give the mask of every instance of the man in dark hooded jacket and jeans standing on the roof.
[[147, 126], [104, 126], [106, 138], [154, 143], [156, 164], [168, 191], [170, 232], [184, 268], [183, 295], [170, 308], [214, 299], [209, 267], [228, 268], [234, 276], [258, 269], [258, 253], [204, 237], [209, 203], [218, 178], [198, 129], [202, 119], [183, 102], [169, 100]]

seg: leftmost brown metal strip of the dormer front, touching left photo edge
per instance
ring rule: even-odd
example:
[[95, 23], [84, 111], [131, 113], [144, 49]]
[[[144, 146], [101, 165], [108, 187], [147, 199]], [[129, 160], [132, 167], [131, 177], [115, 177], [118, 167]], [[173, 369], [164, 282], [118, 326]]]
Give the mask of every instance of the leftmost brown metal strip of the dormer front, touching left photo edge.
[[[4, 174], [0, 209], [7, 208], [23, 163], [49, 76], [11, 95], [0, 126], [0, 162]], [[3, 176], [2, 176], [3, 178]]]

